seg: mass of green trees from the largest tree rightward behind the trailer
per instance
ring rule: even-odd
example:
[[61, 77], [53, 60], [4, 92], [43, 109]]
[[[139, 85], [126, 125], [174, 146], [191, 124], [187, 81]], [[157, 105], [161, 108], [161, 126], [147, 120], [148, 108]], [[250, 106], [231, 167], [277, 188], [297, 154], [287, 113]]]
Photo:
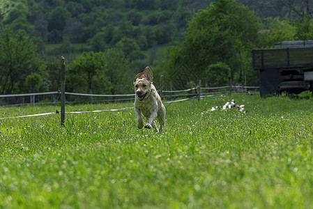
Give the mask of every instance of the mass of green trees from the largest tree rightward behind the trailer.
[[[245, 6], [234, 0], [216, 0], [195, 13], [184, 40], [171, 47], [167, 59], [158, 65], [165, 78], [173, 79], [173, 71], [183, 65], [208, 86], [229, 85], [230, 79], [235, 84], [258, 85], [259, 72], [252, 69], [251, 49], [273, 47], [275, 42], [286, 40], [313, 39], [312, 2], [254, 3]], [[263, 7], [258, 8], [259, 3], [264, 3]], [[264, 6], [268, 6], [268, 14]], [[176, 86], [187, 83], [181, 80]]]

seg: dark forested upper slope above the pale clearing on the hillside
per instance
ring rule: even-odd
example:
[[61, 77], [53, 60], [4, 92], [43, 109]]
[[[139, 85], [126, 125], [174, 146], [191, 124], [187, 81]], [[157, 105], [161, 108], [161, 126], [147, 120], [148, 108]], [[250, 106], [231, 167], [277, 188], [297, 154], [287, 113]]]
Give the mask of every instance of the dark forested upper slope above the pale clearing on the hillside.
[[205, 0], [7, 0], [1, 19], [45, 43], [89, 43], [96, 52], [132, 45], [124, 51], [136, 59], [153, 45], [181, 40], [192, 12], [207, 6]]

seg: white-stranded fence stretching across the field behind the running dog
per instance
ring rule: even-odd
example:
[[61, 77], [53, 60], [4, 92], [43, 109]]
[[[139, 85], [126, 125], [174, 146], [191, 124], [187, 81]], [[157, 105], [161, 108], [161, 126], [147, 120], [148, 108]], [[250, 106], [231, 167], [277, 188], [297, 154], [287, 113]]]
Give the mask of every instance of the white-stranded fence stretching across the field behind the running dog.
[[[161, 85], [162, 86], [162, 85]], [[167, 102], [174, 99], [188, 100], [192, 98], [214, 98], [221, 95], [231, 95], [232, 93], [255, 93], [255, 89], [259, 86], [219, 86], [219, 87], [201, 87], [201, 80], [199, 86], [195, 88], [188, 88], [176, 91], [165, 91], [160, 88], [160, 93], [163, 100]], [[66, 103], [93, 103], [93, 102], [115, 102], [134, 100], [134, 93], [119, 94], [119, 95], [99, 95], [87, 93], [65, 93]], [[61, 98], [61, 91], [52, 91], [45, 93], [22, 93], [11, 95], [0, 95], [0, 106], [16, 106], [25, 104], [59, 104]], [[100, 99], [95, 99], [100, 98]]]

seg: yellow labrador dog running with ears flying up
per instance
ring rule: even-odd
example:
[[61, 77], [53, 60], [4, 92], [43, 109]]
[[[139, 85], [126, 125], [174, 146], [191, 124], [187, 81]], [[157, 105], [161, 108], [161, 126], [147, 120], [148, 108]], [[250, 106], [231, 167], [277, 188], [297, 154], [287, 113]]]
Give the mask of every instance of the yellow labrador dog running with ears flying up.
[[[151, 128], [155, 132], [162, 132], [165, 125], [165, 107], [162, 104], [160, 95], [152, 83], [153, 75], [149, 67], [144, 72], [140, 72], [134, 79], [135, 85], [135, 114], [137, 116], [137, 127]], [[147, 119], [146, 125], [142, 121], [142, 114]], [[160, 128], [155, 125], [155, 118], [158, 118]]]

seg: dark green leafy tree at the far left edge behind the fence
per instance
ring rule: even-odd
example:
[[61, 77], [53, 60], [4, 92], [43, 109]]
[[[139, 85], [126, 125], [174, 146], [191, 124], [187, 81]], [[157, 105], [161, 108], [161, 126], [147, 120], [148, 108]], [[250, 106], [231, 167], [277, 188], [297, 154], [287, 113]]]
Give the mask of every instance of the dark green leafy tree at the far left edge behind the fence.
[[0, 94], [26, 91], [24, 81], [31, 72], [41, 71], [36, 45], [23, 31], [0, 31]]

